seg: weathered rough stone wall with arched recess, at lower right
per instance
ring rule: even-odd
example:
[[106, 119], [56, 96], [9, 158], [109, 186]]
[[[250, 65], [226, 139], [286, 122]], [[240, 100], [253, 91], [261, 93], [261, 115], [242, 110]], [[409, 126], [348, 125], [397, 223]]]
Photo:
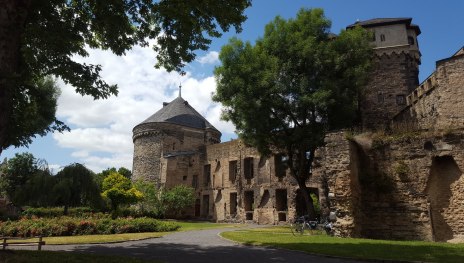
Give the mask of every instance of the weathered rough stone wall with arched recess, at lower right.
[[331, 134], [317, 162], [315, 176], [327, 178], [333, 192], [338, 235], [436, 241], [464, 235], [462, 131], [361, 135], [351, 142]]

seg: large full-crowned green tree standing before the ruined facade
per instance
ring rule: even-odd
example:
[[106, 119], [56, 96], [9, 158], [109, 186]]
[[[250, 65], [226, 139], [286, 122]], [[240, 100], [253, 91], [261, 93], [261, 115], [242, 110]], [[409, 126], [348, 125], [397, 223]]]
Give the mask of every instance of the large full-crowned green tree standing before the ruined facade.
[[276, 17], [254, 46], [231, 39], [215, 69], [213, 100], [222, 103], [222, 117], [261, 154], [286, 156], [313, 218], [306, 181], [314, 153], [327, 131], [355, 122], [372, 54], [365, 30], [334, 37], [330, 25], [321, 9]]

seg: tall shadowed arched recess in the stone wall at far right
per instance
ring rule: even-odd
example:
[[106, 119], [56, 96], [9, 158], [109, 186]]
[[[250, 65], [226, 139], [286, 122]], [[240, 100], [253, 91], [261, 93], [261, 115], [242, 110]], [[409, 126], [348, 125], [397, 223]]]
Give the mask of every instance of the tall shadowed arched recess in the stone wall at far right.
[[426, 193], [429, 201], [432, 234], [434, 241], [446, 241], [453, 238], [453, 231], [447, 222], [445, 212], [453, 196], [451, 186], [461, 176], [452, 156], [438, 156], [432, 159], [432, 167], [427, 182]]

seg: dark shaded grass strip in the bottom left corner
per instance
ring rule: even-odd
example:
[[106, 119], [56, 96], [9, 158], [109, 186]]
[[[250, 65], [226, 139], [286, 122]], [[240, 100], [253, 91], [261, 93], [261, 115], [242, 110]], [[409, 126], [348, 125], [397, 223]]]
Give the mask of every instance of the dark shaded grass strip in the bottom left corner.
[[124, 256], [100, 256], [90, 254], [77, 254], [69, 252], [52, 252], [52, 251], [20, 251], [5, 250], [0, 251], [0, 263], [49, 263], [49, 262], [66, 262], [66, 263], [142, 263], [142, 262], [160, 262], [144, 261], [141, 259], [124, 257]]

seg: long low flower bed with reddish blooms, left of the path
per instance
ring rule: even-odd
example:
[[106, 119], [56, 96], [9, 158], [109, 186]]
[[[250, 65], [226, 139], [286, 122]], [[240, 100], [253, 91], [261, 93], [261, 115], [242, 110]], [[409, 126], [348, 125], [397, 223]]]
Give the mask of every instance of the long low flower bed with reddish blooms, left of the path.
[[73, 236], [91, 234], [121, 234], [141, 232], [166, 232], [180, 226], [151, 218], [33, 218], [0, 222], [0, 236]]

